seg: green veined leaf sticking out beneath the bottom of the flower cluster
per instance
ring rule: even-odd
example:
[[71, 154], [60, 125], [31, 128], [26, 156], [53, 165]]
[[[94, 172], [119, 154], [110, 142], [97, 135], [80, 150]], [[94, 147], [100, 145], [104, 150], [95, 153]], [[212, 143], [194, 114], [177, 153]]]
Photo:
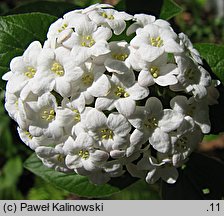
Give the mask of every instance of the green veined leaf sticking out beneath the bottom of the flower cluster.
[[118, 187], [109, 184], [94, 185], [84, 176], [74, 173], [62, 173], [49, 169], [42, 164], [36, 154], [31, 155], [26, 160], [24, 166], [54, 186], [81, 197], [105, 197], [120, 191]]

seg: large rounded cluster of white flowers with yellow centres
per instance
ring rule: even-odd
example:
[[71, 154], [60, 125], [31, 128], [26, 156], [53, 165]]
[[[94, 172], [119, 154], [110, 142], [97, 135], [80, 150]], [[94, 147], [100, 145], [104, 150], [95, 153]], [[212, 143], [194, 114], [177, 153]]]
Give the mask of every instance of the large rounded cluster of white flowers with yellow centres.
[[23, 142], [46, 166], [95, 184], [125, 172], [174, 183], [210, 131], [218, 98], [186, 35], [107, 4], [58, 19], [43, 47], [31, 43], [3, 79]]

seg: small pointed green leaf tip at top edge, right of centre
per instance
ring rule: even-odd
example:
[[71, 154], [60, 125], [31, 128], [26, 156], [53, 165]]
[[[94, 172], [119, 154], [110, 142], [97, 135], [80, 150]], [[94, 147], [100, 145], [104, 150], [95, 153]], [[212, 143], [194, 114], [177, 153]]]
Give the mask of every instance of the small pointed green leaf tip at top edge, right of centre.
[[163, 6], [160, 11], [160, 18], [169, 20], [172, 17], [181, 13], [182, 11], [183, 9], [173, 0], [164, 0]]

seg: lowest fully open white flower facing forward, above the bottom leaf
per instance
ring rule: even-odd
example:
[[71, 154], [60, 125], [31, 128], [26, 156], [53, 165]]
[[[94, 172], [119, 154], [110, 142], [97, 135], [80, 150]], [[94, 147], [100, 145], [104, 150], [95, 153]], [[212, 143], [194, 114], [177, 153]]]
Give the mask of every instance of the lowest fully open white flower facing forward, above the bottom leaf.
[[74, 140], [69, 137], [65, 142], [64, 150], [68, 153], [66, 156], [66, 165], [75, 171], [96, 171], [103, 164], [109, 155], [107, 152], [95, 148], [95, 140], [87, 133], [81, 133]]

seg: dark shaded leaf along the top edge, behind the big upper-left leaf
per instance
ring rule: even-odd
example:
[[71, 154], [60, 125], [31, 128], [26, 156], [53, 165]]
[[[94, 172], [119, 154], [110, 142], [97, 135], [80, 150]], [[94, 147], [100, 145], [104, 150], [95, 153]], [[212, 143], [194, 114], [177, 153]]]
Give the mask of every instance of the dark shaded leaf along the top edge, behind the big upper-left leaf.
[[7, 15], [41, 12], [61, 17], [65, 13], [75, 10], [77, 8], [79, 7], [69, 2], [35, 1], [22, 4], [9, 11]]

